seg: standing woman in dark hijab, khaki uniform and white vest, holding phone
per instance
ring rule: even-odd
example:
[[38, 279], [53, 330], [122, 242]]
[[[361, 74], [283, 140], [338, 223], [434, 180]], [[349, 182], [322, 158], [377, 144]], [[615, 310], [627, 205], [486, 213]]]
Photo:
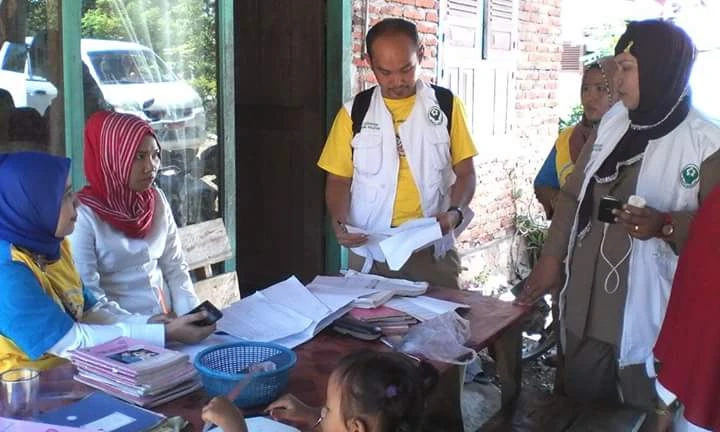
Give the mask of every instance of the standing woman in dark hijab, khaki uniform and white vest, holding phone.
[[[559, 289], [566, 262], [565, 391], [576, 400], [646, 409], [646, 427], [653, 427], [651, 350], [690, 223], [720, 181], [720, 128], [692, 109], [695, 49], [681, 29], [658, 20], [630, 23], [615, 53], [622, 104], [603, 118], [563, 186], [518, 303]], [[688, 158], [696, 163], [683, 165]], [[645, 205], [628, 205], [631, 195]], [[624, 203], [610, 223], [599, 220], [605, 196]]]

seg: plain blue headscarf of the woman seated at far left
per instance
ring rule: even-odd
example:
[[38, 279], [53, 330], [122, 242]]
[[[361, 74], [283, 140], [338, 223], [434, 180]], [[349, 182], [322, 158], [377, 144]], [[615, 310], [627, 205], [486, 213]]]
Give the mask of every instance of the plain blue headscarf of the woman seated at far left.
[[55, 237], [70, 159], [45, 153], [0, 154], [0, 239], [60, 258]]

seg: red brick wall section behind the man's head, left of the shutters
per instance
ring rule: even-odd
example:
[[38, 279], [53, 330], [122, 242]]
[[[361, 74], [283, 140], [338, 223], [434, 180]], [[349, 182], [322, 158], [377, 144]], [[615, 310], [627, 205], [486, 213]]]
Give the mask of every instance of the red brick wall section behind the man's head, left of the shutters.
[[365, 5], [368, 4], [368, 27], [384, 18], [404, 18], [418, 27], [420, 39], [425, 45], [425, 59], [421, 76], [426, 81], [435, 81], [437, 75], [438, 51], [438, 0], [353, 0], [353, 94], [376, 83], [375, 76], [363, 58], [365, 51]]

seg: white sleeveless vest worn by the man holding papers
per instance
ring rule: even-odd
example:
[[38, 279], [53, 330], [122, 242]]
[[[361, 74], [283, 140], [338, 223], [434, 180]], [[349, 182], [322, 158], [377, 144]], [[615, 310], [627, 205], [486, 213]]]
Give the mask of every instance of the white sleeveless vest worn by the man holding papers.
[[[415, 184], [420, 191], [423, 215], [435, 216], [450, 205], [450, 188], [455, 183], [450, 155], [448, 119], [440, 109], [435, 91], [417, 81], [415, 106], [398, 128]], [[352, 113], [354, 99], [345, 104]], [[368, 232], [390, 228], [397, 192], [400, 156], [398, 155], [393, 118], [385, 106], [380, 87], [373, 92], [370, 106], [360, 132], [352, 140], [353, 179], [350, 189], [348, 223]], [[452, 247], [453, 234], [435, 242], [438, 250]], [[449, 243], [449, 247], [448, 247]], [[373, 256], [365, 247], [353, 251], [364, 257]]]

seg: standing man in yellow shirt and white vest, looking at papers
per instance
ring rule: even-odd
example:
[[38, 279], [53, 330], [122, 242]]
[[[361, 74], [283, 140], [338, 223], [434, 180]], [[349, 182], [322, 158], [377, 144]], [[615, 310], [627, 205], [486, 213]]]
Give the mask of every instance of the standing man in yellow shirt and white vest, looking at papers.
[[[462, 102], [453, 96], [448, 115], [438, 95], [451, 93], [418, 80], [423, 48], [414, 24], [383, 20], [368, 32], [366, 46], [378, 87], [366, 91], [362, 118], [353, 109], [362, 94], [340, 109], [318, 161], [327, 171], [335, 235], [362, 254], [367, 236], [348, 233], [346, 224], [374, 232], [434, 217], [445, 235], [440, 243], [415, 252], [399, 271], [375, 260], [370, 272], [458, 288], [453, 231], [475, 192], [477, 155]], [[362, 257], [352, 252], [350, 267], [359, 269]]]

